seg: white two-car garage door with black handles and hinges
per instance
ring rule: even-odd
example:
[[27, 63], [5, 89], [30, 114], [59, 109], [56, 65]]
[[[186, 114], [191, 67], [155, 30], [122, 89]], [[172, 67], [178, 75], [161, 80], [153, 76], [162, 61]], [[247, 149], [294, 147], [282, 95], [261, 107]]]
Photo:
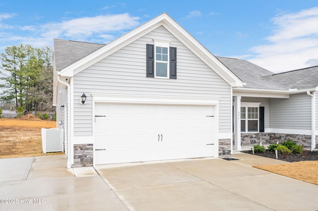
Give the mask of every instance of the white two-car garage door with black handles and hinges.
[[95, 164], [214, 156], [214, 106], [95, 104]]

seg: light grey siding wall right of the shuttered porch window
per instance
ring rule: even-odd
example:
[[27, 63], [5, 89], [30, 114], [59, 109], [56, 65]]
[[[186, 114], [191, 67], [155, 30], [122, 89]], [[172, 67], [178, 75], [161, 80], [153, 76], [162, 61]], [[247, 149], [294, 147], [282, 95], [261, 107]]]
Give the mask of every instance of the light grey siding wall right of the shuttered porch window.
[[270, 99], [270, 128], [311, 130], [312, 99], [306, 93]]

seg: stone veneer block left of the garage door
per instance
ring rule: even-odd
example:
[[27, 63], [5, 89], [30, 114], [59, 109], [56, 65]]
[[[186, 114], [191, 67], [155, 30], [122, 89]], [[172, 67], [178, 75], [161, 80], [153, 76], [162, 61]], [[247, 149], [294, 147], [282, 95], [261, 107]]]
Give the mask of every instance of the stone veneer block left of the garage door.
[[75, 167], [93, 165], [93, 144], [75, 144], [74, 145], [74, 164]]

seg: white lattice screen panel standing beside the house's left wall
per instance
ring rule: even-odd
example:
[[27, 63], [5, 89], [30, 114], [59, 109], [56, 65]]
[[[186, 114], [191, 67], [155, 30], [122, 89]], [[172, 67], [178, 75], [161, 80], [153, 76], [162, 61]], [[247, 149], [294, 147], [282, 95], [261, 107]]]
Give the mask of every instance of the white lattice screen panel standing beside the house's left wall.
[[63, 130], [59, 128], [42, 128], [43, 153], [64, 152]]

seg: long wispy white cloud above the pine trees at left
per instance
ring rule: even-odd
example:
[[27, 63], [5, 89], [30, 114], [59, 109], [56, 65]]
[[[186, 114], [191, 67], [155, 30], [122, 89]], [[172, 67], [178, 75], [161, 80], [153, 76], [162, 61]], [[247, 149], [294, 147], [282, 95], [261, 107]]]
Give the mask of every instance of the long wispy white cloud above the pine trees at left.
[[54, 38], [107, 43], [115, 39], [116, 34], [120, 36], [138, 26], [139, 19], [139, 17], [131, 16], [129, 13], [123, 13], [81, 17], [40, 25], [11, 26], [15, 30], [19, 30], [20, 35], [6, 35], [5, 37], [0, 35], [0, 42], [4, 40], [6, 42], [14, 41], [17, 44], [29, 44], [33, 47], [52, 46]]

